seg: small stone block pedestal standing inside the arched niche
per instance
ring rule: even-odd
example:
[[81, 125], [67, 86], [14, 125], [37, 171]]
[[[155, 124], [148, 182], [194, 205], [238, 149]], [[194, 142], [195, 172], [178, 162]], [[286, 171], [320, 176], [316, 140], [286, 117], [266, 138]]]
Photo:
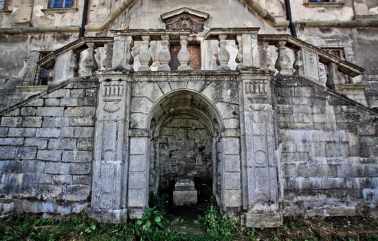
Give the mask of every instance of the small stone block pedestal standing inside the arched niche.
[[176, 178], [175, 191], [173, 191], [173, 204], [176, 206], [197, 204], [197, 190], [193, 178]]

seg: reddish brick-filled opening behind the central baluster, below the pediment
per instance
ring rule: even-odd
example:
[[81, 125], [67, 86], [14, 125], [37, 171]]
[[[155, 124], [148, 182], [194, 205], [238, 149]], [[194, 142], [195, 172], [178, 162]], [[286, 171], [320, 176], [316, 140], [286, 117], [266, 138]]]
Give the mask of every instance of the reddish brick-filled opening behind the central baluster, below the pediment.
[[[189, 66], [190, 70], [201, 70], [201, 47], [199, 44], [190, 44], [187, 46], [190, 53]], [[181, 45], [170, 45], [170, 70], [177, 70], [179, 67], [178, 54]]]

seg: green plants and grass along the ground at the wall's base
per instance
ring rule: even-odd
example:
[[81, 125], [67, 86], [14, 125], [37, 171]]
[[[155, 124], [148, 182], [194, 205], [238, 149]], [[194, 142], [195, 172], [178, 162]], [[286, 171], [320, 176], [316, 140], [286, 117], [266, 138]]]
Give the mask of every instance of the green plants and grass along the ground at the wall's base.
[[[170, 222], [164, 207], [165, 197], [155, 197], [155, 206], [142, 219], [120, 224], [99, 223], [85, 213], [63, 220], [38, 216], [0, 218], [0, 240], [374, 240], [378, 241], [377, 222], [370, 216], [349, 218], [285, 218], [279, 228], [246, 229], [223, 216], [210, 205], [198, 221], [176, 218]], [[158, 208], [159, 207], [159, 208]], [[171, 217], [172, 218], [172, 217]], [[185, 232], [180, 231], [185, 228]]]

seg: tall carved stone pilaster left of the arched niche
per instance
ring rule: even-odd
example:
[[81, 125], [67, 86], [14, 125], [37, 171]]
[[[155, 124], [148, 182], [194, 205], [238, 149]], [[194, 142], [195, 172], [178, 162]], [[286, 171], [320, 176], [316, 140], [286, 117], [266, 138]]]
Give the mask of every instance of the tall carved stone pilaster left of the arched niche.
[[128, 214], [129, 92], [120, 75], [100, 76], [89, 216], [102, 222], [120, 222]]

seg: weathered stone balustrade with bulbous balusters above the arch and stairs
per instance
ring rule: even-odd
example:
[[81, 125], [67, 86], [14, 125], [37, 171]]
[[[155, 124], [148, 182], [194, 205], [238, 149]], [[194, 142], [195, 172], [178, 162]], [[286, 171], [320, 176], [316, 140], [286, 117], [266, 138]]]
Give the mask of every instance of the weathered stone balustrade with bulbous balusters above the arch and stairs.
[[[258, 34], [259, 28], [212, 28], [203, 41], [218, 41], [219, 49], [216, 56], [218, 70], [228, 71], [230, 52], [226, 48], [226, 41], [234, 41], [237, 46], [235, 62], [236, 70], [267, 69], [277, 70], [282, 75], [298, 75], [319, 82], [319, 65], [327, 67], [327, 81], [320, 83], [332, 90], [344, 94], [344, 75], [351, 77], [364, 72], [362, 67], [344, 61], [309, 43], [300, 41], [287, 34]], [[85, 37], [66, 45], [59, 50], [48, 54], [39, 65], [55, 67], [54, 81], [59, 82], [67, 78], [78, 76], [77, 54], [82, 50], [88, 50], [88, 54], [82, 61], [81, 76], [94, 76], [98, 70], [96, 63], [96, 48], [106, 47], [106, 57], [102, 61], [105, 70], [128, 70], [138, 72], [151, 72], [153, 56], [151, 56], [151, 41], [159, 41], [162, 47], [154, 56], [159, 65], [157, 71], [170, 71], [171, 54], [170, 45], [180, 45], [177, 54], [179, 67], [177, 70], [190, 70], [190, 30], [111, 30], [113, 37]], [[138, 46], [135, 50], [135, 46]], [[272, 63], [270, 49], [274, 45], [277, 50], [277, 58]], [[134, 50], [133, 50], [134, 48]], [[203, 52], [203, 51], [202, 51]], [[290, 53], [291, 52], [291, 53]], [[134, 55], [140, 65], [135, 70]], [[343, 74], [340, 74], [343, 73]]]

